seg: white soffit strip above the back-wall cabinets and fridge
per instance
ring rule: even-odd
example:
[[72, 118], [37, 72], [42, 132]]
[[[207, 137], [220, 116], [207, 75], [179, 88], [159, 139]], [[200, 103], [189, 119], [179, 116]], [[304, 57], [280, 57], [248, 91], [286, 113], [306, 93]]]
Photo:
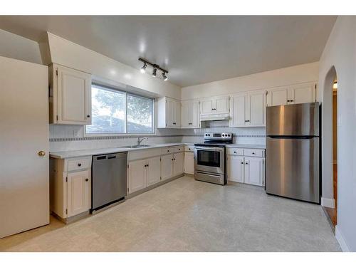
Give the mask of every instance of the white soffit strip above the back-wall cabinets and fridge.
[[315, 82], [318, 81], [318, 72], [319, 63], [314, 62], [226, 80], [217, 80], [211, 83], [182, 88], [182, 100]]

